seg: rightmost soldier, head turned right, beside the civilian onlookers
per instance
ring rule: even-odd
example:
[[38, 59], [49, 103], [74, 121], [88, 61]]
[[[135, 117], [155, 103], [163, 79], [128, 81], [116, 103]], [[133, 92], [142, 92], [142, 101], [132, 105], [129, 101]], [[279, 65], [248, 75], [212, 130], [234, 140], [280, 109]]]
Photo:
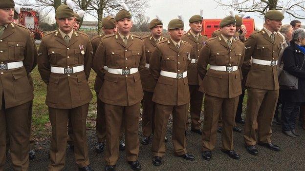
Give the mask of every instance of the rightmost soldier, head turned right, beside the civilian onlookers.
[[247, 151], [253, 155], [258, 155], [257, 142], [270, 150], [280, 151], [280, 147], [271, 143], [271, 124], [279, 96], [277, 59], [283, 48], [283, 38], [276, 31], [280, 29], [283, 18], [280, 11], [269, 10], [264, 18], [265, 27], [245, 42], [243, 71], [247, 75], [248, 102], [243, 137]]

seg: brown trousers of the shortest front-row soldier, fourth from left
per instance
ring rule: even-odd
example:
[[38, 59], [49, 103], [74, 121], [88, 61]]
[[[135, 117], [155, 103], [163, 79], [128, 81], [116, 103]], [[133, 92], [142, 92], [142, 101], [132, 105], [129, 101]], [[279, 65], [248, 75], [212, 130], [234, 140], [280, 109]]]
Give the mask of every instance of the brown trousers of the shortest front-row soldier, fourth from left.
[[173, 114], [173, 144], [175, 155], [183, 155], [187, 153], [185, 124], [189, 104], [180, 106], [168, 106], [156, 103], [155, 118], [154, 118], [154, 133], [152, 138], [152, 154], [153, 156], [164, 156], [165, 154], [165, 135], [168, 120]]

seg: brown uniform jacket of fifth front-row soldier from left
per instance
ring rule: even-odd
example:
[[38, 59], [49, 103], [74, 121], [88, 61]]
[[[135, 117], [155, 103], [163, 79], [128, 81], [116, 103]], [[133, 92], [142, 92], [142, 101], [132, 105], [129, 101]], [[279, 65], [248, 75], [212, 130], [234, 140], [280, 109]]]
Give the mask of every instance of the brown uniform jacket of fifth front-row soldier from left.
[[[244, 44], [233, 38], [231, 49], [222, 36], [209, 39], [200, 50], [197, 63], [199, 75], [203, 78], [199, 91], [220, 97], [233, 98], [241, 94], [241, 66], [244, 57]], [[238, 66], [234, 72], [209, 69], [207, 65]]]

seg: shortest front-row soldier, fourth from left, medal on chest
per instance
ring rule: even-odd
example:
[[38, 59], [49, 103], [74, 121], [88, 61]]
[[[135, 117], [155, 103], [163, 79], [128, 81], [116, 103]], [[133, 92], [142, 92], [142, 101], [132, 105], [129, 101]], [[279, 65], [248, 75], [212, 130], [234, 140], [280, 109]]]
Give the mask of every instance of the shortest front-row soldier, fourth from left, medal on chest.
[[190, 102], [187, 78], [193, 47], [182, 40], [184, 23], [172, 19], [168, 24], [169, 40], [161, 41], [152, 51], [150, 71], [156, 85], [152, 96], [155, 102], [152, 164], [161, 165], [165, 154], [165, 134], [168, 119], [173, 113], [173, 143], [176, 156], [186, 160], [195, 157], [186, 150], [185, 125]]

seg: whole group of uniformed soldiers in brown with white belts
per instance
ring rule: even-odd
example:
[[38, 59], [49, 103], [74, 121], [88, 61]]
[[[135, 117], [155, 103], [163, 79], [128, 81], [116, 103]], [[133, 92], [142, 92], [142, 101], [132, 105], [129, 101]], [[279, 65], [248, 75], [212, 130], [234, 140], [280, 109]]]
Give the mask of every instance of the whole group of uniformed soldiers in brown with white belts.
[[[221, 150], [239, 159], [234, 151], [233, 130], [242, 80], [248, 87], [244, 130], [247, 151], [258, 155], [257, 143], [280, 151], [271, 142], [271, 123], [279, 94], [276, 64], [283, 38], [276, 31], [284, 18], [281, 12], [268, 11], [265, 27], [246, 40], [244, 34], [237, 34], [242, 20], [235, 15], [221, 20], [216, 38], [207, 39], [200, 34], [202, 17], [195, 15], [189, 19], [191, 29], [185, 35], [184, 22], [172, 19], [168, 24], [170, 38], [164, 38], [163, 23], [157, 18], [150, 22], [151, 35], [142, 39], [131, 35], [131, 14], [125, 8], [114, 18], [104, 18], [105, 35], [90, 40], [86, 34], [73, 30], [73, 9], [62, 4], [55, 14], [59, 29], [44, 36], [37, 52], [30, 32], [12, 22], [14, 5], [13, 0], [0, 2], [1, 171], [6, 133], [14, 170], [28, 170], [28, 111], [34, 98], [29, 74], [36, 59], [47, 84], [46, 104], [52, 124], [48, 171], [65, 167], [68, 120], [79, 170], [93, 171], [86, 135], [88, 103], [92, 99], [87, 83], [91, 68], [97, 74], [94, 85], [98, 97], [97, 152], [105, 146], [105, 171], [115, 170], [119, 149], [125, 149], [123, 132], [127, 161], [132, 170], [141, 170], [138, 161], [141, 101], [141, 142], [149, 144], [153, 134], [153, 165], [162, 163], [170, 114], [173, 114], [174, 154], [186, 160], [195, 159], [186, 149], [189, 104], [191, 131], [202, 134], [202, 158], [212, 159], [221, 118]], [[204, 120], [200, 128], [203, 94]]]

